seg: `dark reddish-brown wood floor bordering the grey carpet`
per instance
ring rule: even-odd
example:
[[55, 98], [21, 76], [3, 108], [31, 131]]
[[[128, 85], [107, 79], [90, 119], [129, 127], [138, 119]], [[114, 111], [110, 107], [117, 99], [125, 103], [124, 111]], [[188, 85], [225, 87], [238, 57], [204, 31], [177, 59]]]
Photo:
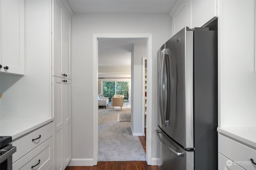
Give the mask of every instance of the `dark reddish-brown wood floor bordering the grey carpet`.
[[[146, 128], [145, 136], [139, 139], [146, 153]], [[146, 161], [111, 161], [98, 162], [97, 166], [67, 166], [65, 170], [157, 170], [157, 166], [147, 165]]]

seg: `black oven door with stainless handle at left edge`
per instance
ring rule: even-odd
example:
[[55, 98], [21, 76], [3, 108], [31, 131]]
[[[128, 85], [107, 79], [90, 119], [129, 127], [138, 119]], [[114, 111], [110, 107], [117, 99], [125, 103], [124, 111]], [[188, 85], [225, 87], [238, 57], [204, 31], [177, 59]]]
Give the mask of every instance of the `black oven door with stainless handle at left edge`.
[[16, 152], [16, 147], [12, 144], [6, 145], [0, 150], [0, 170], [12, 170], [12, 154]]

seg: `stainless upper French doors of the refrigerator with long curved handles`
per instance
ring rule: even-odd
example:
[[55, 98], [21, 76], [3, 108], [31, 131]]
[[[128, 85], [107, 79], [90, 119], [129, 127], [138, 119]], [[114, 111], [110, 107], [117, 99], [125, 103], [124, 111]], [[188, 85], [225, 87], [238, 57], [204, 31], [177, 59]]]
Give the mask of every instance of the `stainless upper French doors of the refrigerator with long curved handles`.
[[193, 31], [186, 27], [158, 53], [158, 125], [186, 149], [193, 142]]

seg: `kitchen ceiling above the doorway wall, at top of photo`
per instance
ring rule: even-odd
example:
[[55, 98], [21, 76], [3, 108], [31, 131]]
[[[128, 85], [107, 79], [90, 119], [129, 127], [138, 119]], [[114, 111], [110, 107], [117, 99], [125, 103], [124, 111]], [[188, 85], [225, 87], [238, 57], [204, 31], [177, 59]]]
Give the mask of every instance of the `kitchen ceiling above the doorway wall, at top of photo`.
[[74, 13], [169, 14], [177, 0], [67, 0]]

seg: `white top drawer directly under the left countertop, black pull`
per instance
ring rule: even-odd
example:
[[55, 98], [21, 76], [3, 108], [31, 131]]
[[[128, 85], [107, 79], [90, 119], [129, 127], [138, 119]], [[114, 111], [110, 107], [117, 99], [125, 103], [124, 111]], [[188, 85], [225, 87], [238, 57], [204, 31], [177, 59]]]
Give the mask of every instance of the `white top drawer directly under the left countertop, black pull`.
[[[39, 139], [39, 136], [41, 137]], [[12, 155], [12, 163], [16, 162], [19, 158], [39, 146], [41, 143], [52, 137], [53, 123], [49, 123], [40, 129], [37, 129], [24, 137], [12, 142], [12, 146], [16, 146], [17, 151]], [[36, 139], [32, 141], [32, 139]]]

